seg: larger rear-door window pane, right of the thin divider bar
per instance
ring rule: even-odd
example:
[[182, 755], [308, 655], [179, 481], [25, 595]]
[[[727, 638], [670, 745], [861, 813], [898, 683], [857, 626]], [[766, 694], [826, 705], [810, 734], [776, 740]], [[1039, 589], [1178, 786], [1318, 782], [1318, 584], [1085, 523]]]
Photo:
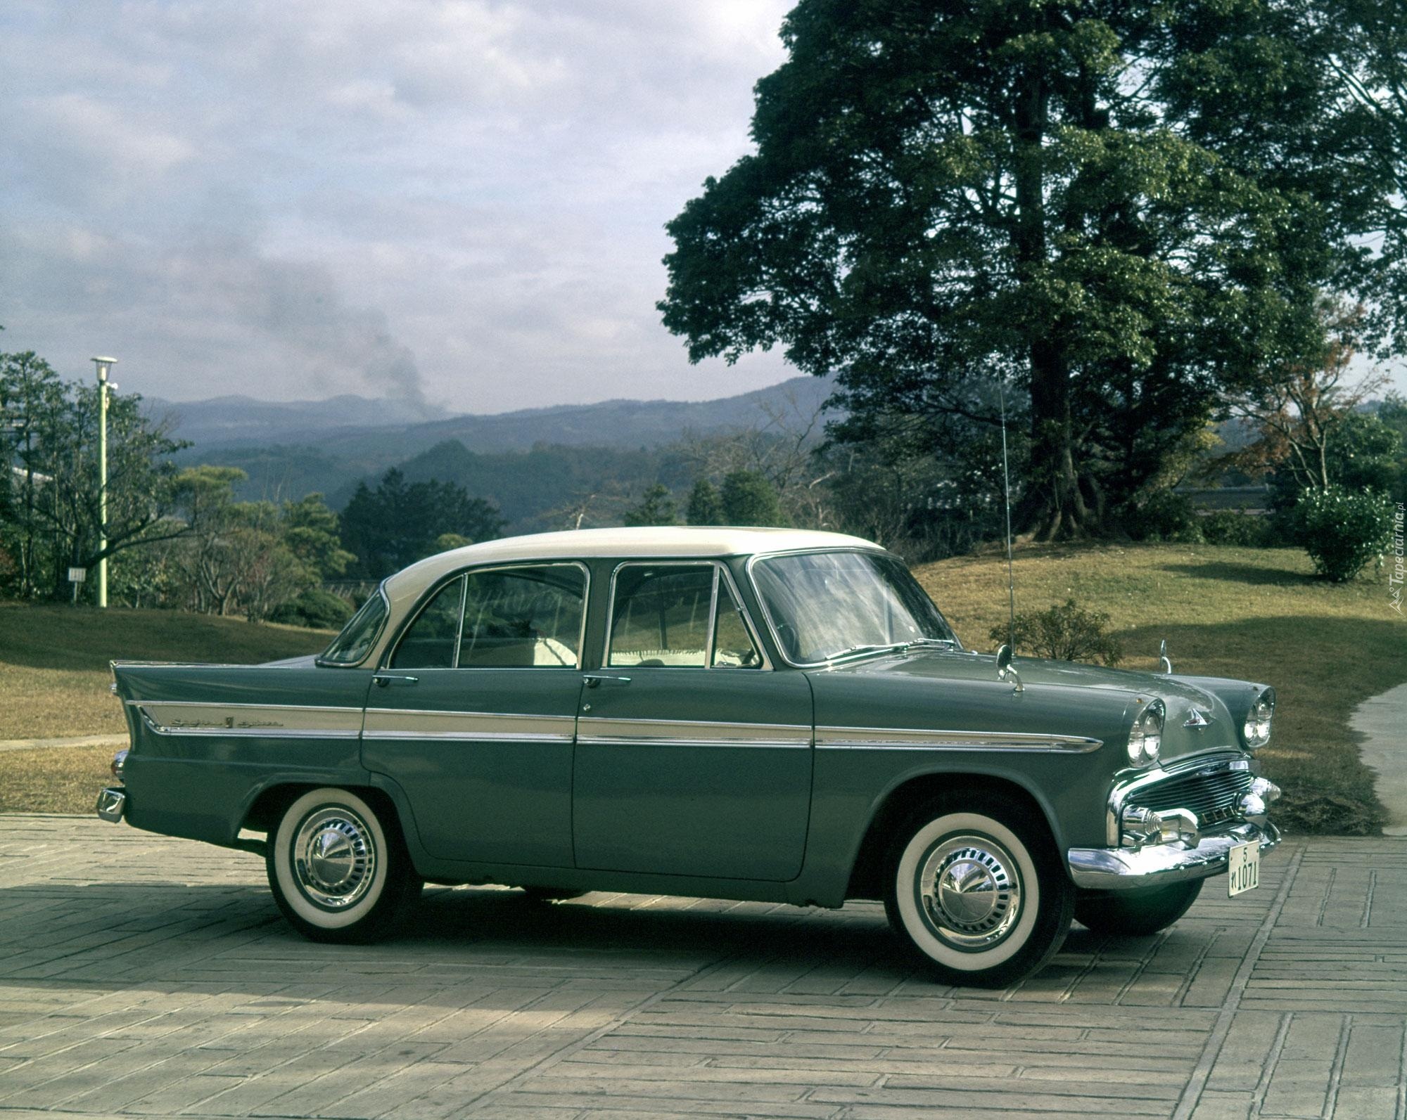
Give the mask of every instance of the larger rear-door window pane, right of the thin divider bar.
[[460, 668], [575, 668], [585, 573], [575, 564], [469, 573]]

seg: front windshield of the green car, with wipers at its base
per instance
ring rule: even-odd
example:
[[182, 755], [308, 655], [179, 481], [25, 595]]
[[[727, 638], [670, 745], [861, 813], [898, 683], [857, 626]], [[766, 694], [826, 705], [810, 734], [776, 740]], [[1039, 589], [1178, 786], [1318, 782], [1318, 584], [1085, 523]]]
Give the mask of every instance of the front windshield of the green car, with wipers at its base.
[[892, 556], [770, 556], [753, 566], [753, 581], [795, 664], [916, 643], [958, 647], [933, 599]]

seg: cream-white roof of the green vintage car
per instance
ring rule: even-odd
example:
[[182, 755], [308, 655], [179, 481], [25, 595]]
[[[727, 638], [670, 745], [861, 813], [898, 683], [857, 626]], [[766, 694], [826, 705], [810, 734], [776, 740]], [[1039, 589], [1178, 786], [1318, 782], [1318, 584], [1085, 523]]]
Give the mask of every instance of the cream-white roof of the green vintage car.
[[810, 529], [734, 529], [706, 525], [660, 525], [635, 529], [575, 529], [561, 533], [507, 536], [426, 557], [386, 581], [391, 608], [419, 595], [440, 575], [469, 564], [518, 560], [582, 560], [592, 556], [750, 556], [795, 549], [878, 549], [872, 540]]

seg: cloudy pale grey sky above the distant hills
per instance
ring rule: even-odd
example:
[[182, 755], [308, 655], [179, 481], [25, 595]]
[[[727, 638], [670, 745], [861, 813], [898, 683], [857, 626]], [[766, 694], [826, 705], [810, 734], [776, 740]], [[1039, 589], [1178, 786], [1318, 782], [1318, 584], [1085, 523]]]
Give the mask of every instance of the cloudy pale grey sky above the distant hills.
[[0, 349], [193, 400], [699, 400], [663, 225], [789, 0], [6, 0]]

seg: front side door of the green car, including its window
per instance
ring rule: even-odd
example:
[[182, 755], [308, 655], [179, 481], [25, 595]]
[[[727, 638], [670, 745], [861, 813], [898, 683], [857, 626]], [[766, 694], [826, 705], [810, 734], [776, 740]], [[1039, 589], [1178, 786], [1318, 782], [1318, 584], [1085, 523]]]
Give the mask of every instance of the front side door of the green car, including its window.
[[626, 563], [577, 726], [577, 865], [795, 878], [810, 810], [812, 704], [772, 671], [726, 567]]

